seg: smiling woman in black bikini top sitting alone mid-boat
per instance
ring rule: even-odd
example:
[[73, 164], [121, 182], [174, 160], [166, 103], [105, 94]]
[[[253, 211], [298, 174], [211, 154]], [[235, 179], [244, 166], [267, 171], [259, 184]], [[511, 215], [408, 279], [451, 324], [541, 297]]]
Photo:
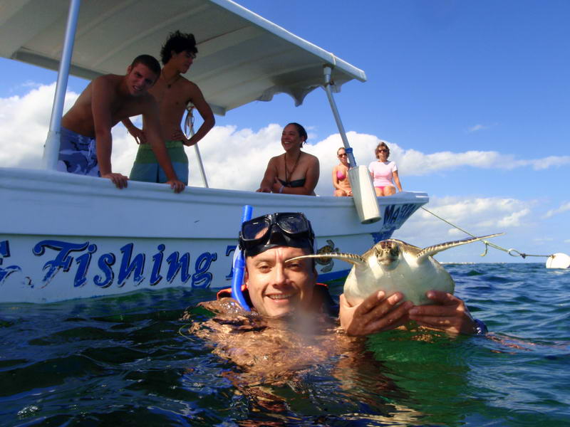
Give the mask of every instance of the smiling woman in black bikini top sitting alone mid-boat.
[[289, 123], [281, 133], [284, 154], [271, 157], [264, 177], [259, 184], [262, 193], [315, 195], [318, 182], [318, 159], [302, 152], [307, 132], [299, 123]]

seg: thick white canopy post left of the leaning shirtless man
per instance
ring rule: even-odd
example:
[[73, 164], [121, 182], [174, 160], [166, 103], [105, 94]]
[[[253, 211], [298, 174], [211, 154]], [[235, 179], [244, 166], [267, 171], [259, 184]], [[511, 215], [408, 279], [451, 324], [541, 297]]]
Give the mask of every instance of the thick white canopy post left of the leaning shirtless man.
[[53, 97], [48, 137], [46, 138], [46, 144], [43, 147], [43, 167], [45, 169], [56, 170], [58, 166], [61, 117], [63, 116], [63, 104], [66, 100], [69, 66], [71, 64], [71, 55], [73, 54], [73, 42], [76, 38], [80, 4], [81, 0], [71, 0], [69, 4], [66, 36], [63, 41], [63, 51], [61, 53], [58, 81], [56, 83], [56, 95]]

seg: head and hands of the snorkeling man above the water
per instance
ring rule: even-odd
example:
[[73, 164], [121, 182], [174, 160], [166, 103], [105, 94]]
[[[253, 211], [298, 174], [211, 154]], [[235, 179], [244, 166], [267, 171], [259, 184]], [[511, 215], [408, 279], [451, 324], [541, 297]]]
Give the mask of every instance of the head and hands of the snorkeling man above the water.
[[[304, 214], [269, 214], [245, 221], [239, 248], [246, 259], [244, 298], [259, 315], [336, 311], [326, 286], [316, 282], [314, 260], [289, 261], [315, 253], [314, 232]], [[228, 290], [219, 292], [218, 297], [224, 296], [229, 296]], [[338, 317], [343, 330], [352, 336], [393, 330], [409, 320], [449, 334], [484, 333], [482, 322], [471, 317], [460, 298], [436, 290], [428, 291], [427, 297], [433, 305], [415, 306], [410, 301], [400, 304], [401, 292], [385, 295], [380, 291], [351, 307], [341, 295]]]

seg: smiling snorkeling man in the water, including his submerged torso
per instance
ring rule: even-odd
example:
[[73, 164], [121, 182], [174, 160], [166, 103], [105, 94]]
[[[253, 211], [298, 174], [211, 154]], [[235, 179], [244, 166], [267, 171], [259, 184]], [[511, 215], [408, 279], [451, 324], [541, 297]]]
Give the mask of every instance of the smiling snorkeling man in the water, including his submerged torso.
[[[231, 290], [222, 290], [217, 300], [201, 302], [183, 317], [191, 321], [192, 340], [203, 340], [213, 354], [239, 367], [224, 368], [222, 376], [247, 397], [252, 413], [270, 413], [281, 420], [291, 405], [287, 391], [299, 394], [305, 387], [296, 384], [305, 384], [311, 374], [331, 378], [348, 390], [363, 372], [376, 372], [373, 384], [366, 386], [377, 394], [398, 395], [398, 385], [381, 374], [385, 367], [363, 346], [360, 337], [368, 334], [392, 330], [408, 320], [451, 334], [477, 332], [465, 304], [443, 292], [430, 292], [434, 305], [429, 306], [400, 303], [400, 292], [375, 292], [356, 307], [341, 295], [338, 307], [326, 285], [317, 283], [314, 259], [293, 259], [314, 254], [314, 243], [304, 214], [269, 214], [245, 221], [239, 233], [239, 250], [245, 255], [242, 295], [233, 299]], [[339, 313], [341, 327], [336, 321]]]

